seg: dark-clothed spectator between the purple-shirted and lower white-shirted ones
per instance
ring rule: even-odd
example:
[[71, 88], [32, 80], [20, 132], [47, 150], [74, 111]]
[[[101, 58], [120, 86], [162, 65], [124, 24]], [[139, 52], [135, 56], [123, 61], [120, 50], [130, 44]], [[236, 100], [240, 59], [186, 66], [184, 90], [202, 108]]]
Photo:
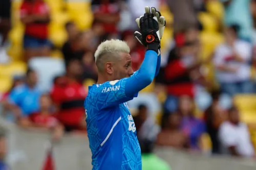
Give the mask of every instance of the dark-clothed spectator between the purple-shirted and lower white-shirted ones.
[[220, 106], [220, 92], [213, 91], [212, 104], [206, 109], [204, 114], [204, 120], [206, 123], [206, 130], [210, 136], [212, 143], [211, 153], [220, 154], [220, 141], [219, 141], [219, 128], [222, 122], [225, 120], [226, 115], [224, 109]]

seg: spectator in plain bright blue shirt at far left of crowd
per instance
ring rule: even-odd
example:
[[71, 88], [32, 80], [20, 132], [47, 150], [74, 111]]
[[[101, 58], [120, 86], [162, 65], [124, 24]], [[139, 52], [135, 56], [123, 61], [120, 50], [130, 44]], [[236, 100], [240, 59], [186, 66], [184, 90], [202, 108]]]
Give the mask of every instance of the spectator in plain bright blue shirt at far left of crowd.
[[28, 68], [26, 83], [18, 85], [9, 94], [8, 108], [16, 116], [28, 116], [39, 111], [41, 91], [37, 88], [36, 72]]

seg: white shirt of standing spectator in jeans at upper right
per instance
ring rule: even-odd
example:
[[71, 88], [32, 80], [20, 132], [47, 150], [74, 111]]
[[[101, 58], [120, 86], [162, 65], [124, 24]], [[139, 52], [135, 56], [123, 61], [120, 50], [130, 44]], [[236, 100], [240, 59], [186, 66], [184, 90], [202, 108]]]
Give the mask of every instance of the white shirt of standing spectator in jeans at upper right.
[[[234, 50], [245, 60], [237, 62], [231, 59], [232, 48], [223, 43], [215, 50], [214, 64], [216, 67], [216, 77], [221, 83], [233, 83], [250, 79], [250, 65], [252, 47], [250, 43], [238, 40], [234, 43]], [[226, 65], [231, 68], [238, 68], [236, 72], [227, 72], [218, 69], [218, 66]]]

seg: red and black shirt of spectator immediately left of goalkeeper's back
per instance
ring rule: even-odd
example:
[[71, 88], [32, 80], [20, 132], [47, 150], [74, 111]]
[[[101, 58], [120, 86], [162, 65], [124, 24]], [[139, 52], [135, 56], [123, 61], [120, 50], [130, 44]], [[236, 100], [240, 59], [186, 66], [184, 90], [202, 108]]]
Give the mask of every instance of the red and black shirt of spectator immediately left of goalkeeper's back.
[[84, 116], [83, 102], [87, 91], [81, 83], [67, 77], [59, 78], [52, 89], [53, 103], [59, 106], [56, 117], [65, 126], [79, 127]]

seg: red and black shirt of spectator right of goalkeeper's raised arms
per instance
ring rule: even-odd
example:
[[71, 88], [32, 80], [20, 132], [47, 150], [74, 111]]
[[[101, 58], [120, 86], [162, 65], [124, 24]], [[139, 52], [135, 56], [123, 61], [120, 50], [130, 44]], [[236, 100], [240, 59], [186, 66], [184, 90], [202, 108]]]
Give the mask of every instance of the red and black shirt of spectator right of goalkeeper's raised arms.
[[175, 96], [194, 97], [194, 83], [188, 77], [187, 69], [181, 60], [176, 59], [169, 62], [165, 67], [165, 78], [173, 82], [167, 85], [167, 93]]

